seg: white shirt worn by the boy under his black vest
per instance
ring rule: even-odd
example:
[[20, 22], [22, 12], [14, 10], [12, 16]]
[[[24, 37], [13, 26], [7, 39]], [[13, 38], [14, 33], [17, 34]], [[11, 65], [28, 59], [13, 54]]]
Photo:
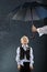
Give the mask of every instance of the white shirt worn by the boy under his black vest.
[[[26, 49], [28, 48], [28, 45], [22, 45], [23, 49], [26, 51]], [[30, 65], [33, 66], [33, 61], [34, 56], [33, 56], [33, 49], [31, 48], [31, 52], [30, 52], [30, 60], [26, 59], [26, 55], [24, 56], [23, 60], [20, 60], [20, 47], [17, 48], [16, 50], [16, 58], [15, 58], [15, 61], [17, 62], [17, 64], [21, 64], [21, 65], [24, 65], [23, 63], [24, 62], [30, 62]]]

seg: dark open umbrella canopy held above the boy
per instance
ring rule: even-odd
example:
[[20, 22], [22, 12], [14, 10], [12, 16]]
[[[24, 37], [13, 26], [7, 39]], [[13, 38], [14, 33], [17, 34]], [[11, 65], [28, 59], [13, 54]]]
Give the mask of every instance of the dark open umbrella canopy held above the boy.
[[[16, 9], [14, 9], [16, 10]], [[34, 21], [47, 18], [47, 9], [37, 2], [25, 2], [12, 16], [12, 20]]]

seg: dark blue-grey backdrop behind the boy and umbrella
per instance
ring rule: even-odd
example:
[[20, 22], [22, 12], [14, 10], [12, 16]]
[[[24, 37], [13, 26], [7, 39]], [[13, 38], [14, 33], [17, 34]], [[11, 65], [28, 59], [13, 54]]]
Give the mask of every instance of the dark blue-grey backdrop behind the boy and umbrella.
[[[17, 72], [15, 62], [16, 48], [20, 45], [20, 38], [27, 35], [30, 45], [34, 51], [34, 70], [33, 72], [46, 72], [47, 58], [47, 35], [31, 39], [31, 22], [17, 22], [9, 20], [8, 14], [17, 6], [25, 1], [33, 0], [0, 0], [0, 72]], [[46, 0], [36, 0], [47, 4]], [[47, 19], [34, 21], [36, 27], [47, 24]]]

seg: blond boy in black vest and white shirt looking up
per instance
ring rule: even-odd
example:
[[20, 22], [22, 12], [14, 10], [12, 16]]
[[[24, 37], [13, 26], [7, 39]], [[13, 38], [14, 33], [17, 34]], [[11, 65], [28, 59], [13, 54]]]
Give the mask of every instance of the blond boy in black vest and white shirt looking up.
[[33, 70], [33, 49], [28, 47], [28, 38], [23, 35], [21, 38], [21, 47], [16, 50], [16, 62], [20, 72], [31, 72]]

